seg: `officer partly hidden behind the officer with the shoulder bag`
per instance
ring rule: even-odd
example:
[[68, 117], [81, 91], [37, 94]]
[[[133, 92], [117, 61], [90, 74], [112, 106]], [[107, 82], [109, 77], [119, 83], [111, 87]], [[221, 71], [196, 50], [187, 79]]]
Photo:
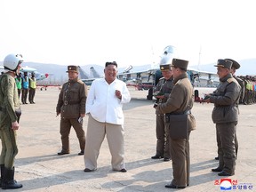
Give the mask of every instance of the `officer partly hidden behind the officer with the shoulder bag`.
[[[164, 103], [172, 92], [173, 76], [171, 69], [172, 60], [166, 60], [169, 58], [163, 58], [160, 61], [160, 70], [164, 77], [159, 79], [158, 84], [154, 88], [153, 95], [156, 97], [156, 104]], [[156, 155], [151, 156], [152, 159], [164, 158], [164, 161], [171, 160], [170, 152], [170, 139], [167, 127], [164, 124], [164, 114], [156, 113]]]

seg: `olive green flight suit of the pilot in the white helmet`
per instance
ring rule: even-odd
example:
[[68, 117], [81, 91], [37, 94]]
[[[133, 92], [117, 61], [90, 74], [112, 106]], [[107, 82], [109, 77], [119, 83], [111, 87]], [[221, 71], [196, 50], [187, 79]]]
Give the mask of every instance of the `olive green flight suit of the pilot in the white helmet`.
[[14, 158], [18, 154], [16, 131], [12, 130], [12, 123], [19, 120], [15, 110], [20, 109], [20, 101], [15, 79], [9, 74], [0, 77], [0, 108], [2, 140], [0, 164], [4, 164], [7, 169], [12, 169]]

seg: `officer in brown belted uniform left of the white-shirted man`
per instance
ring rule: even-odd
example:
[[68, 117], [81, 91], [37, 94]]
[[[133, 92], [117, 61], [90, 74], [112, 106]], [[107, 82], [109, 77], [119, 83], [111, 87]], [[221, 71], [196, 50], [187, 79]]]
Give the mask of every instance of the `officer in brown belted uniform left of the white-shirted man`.
[[69, 133], [74, 127], [80, 144], [78, 156], [84, 155], [85, 134], [83, 117], [85, 116], [85, 103], [87, 99], [87, 86], [78, 80], [78, 66], [68, 66], [68, 82], [63, 84], [56, 107], [57, 116], [60, 115], [60, 135], [62, 149], [59, 156], [70, 153]]

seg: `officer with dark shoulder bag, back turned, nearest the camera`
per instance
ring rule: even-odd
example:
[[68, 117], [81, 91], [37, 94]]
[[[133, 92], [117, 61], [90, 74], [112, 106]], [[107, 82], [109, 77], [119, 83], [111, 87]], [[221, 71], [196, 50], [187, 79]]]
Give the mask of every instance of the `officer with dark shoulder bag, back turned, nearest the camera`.
[[[190, 111], [194, 104], [194, 91], [193, 86], [188, 79], [187, 68], [188, 60], [172, 60], [174, 84], [172, 92], [166, 102], [159, 103], [156, 107], [156, 111], [165, 114], [165, 124], [168, 125], [169, 129], [175, 122], [168, 123], [166, 121], [166, 116], [185, 115], [186, 117], [186, 127], [184, 129], [184, 132], [187, 135], [186, 139], [174, 138], [172, 135], [175, 135], [176, 133], [169, 133], [173, 180], [170, 184], [165, 185], [165, 188], [186, 188], [189, 185], [189, 134], [195, 129], [196, 120]], [[181, 127], [177, 127], [177, 132], [180, 132], [180, 129]]]

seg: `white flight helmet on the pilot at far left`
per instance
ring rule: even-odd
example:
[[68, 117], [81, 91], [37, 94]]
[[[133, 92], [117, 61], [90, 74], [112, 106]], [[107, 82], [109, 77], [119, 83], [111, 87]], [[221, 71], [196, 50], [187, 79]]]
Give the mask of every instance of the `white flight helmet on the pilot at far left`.
[[4, 58], [4, 69], [16, 71], [21, 62], [23, 62], [21, 54], [8, 54]]

